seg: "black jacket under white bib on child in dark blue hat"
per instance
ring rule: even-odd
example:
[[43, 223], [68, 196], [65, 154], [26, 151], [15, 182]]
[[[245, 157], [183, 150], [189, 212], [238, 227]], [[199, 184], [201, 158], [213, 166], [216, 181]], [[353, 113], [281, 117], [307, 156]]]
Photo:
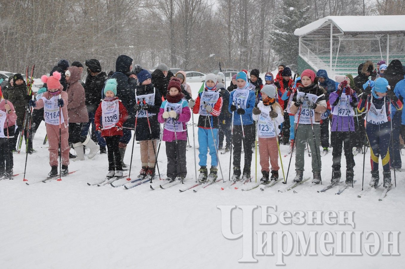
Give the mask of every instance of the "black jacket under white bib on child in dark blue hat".
[[[153, 84], [138, 85], [135, 88], [136, 95], [139, 96], [139, 95], [143, 95], [143, 94], [151, 94], [151, 93], [153, 93], [153, 88], [154, 88]], [[158, 113], [159, 113], [159, 109], [160, 109], [161, 105], [162, 105], [162, 96], [160, 95], [159, 91], [156, 89], [155, 104], [153, 106], [149, 106], [150, 109], [148, 110], [148, 114], [149, 113], [156, 114], [156, 115], [149, 115], [149, 122], [151, 124], [152, 136], [149, 132], [149, 124], [148, 124], [147, 117], [138, 117], [138, 121], [136, 123], [136, 132], [135, 132], [136, 141], [160, 138], [160, 124], [158, 122]]]

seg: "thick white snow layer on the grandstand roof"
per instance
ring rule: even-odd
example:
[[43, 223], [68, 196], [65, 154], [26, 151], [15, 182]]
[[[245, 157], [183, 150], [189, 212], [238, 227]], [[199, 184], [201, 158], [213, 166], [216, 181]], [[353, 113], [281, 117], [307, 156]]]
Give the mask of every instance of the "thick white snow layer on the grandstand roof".
[[303, 36], [332, 21], [343, 33], [346, 32], [401, 32], [405, 31], [405, 15], [382, 16], [327, 16], [295, 29], [294, 35]]

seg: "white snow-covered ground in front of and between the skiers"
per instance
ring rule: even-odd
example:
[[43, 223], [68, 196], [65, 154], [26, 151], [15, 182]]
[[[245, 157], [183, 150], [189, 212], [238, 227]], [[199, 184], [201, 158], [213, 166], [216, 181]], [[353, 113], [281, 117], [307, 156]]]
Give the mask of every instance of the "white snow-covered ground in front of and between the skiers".
[[[193, 83], [194, 84], [194, 83]], [[200, 83], [192, 85], [198, 91]], [[196, 121], [197, 117], [195, 117]], [[192, 132], [190, 129], [190, 143]], [[41, 124], [34, 138], [36, 153], [28, 156], [28, 182], [42, 180], [50, 171], [48, 150], [42, 148], [45, 126]], [[132, 141], [132, 140], [131, 140]], [[130, 149], [132, 143], [128, 145]], [[198, 142], [196, 138], [196, 147]], [[288, 151], [281, 145], [282, 155]], [[198, 154], [198, 150], [196, 150]], [[193, 148], [187, 151], [188, 182], [194, 183]], [[290, 156], [283, 158], [287, 173]], [[159, 155], [160, 173], [166, 171], [165, 145]], [[210, 160], [210, 158], [208, 158]], [[229, 153], [220, 155], [222, 172], [228, 179]], [[71, 162], [70, 171], [76, 173], [62, 181], [36, 183], [27, 186], [20, 174], [14, 180], [0, 181], [0, 267], [1, 268], [269, 268], [277, 261], [277, 236], [273, 235], [274, 256], [257, 256], [256, 231], [288, 231], [294, 237], [292, 254], [285, 256], [286, 268], [403, 268], [403, 235], [399, 234], [400, 256], [382, 256], [382, 231], [403, 232], [405, 222], [405, 172], [396, 173], [397, 187], [390, 190], [383, 201], [382, 192], [357, 197], [361, 190], [362, 155], [355, 157], [354, 188], [335, 195], [337, 187], [318, 193], [322, 186], [309, 187], [307, 182], [292, 191], [280, 193], [285, 185], [279, 183], [264, 191], [259, 188], [242, 192], [240, 189], [221, 190], [217, 183], [194, 193], [179, 192], [177, 186], [167, 190], [151, 190], [149, 184], [125, 190], [123, 187], [87, 186], [107, 173], [107, 155], [97, 155], [93, 160]], [[14, 155], [14, 172], [23, 173], [25, 152]], [[130, 162], [127, 151], [125, 162]], [[198, 156], [197, 156], [198, 162]], [[324, 185], [331, 175], [332, 154], [322, 158]], [[345, 158], [342, 157], [342, 176], [345, 175]], [[132, 178], [140, 170], [139, 145], [134, 147]], [[197, 167], [198, 169], [198, 167]], [[369, 182], [369, 152], [366, 156], [364, 186]], [[218, 173], [220, 175], [220, 173]], [[255, 175], [255, 157], [252, 162]], [[288, 181], [294, 175], [294, 156]], [[280, 176], [282, 173], [280, 171]], [[311, 176], [311, 162], [305, 161], [304, 177]], [[392, 178], [394, 173], [392, 173]], [[260, 165], [258, 164], [258, 179]], [[382, 173], [380, 173], [382, 178]], [[253, 179], [253, 181], [255, 178]], [[394, 179], [392, 179], [394, 181]], [[182, 187], [183, 188], [183, 187]], [[238, 263], [242, 257], [246, 238], [229, 240], [221, 230], [221, 210], [217, 205], [277, 205], [281, 211], [354, 211], [354, 228], [350, 225], [281, 224], [259, 225], [260, 209], [254, 211], [253, 256], [257, 263]], [[232, 212], [232, 231], [242, 230], [241, 209]], [[269, 210], [274, 213], [274, 210]], [[294, 220], [294, 218], [293, 218]], [[226, 226], [226, 225], [225, 225]], [[324, 256], [319, 239], [316, 256], [296, 256], [297, 241], [294, 233], [303, 231], [307, 236], [316, 231], [362, 231], [362, 256]], [[376, 256], [369, 256], [364, 248], [366, 231], [379, 234], [381, 243]], [[336, 236], [335, 236], [336, 239]], [[290, 245], [291, 246], [291, 245]], [[330, 244], [336, 253], [336, 243]], [[328, 248], [330, 247], [328, 246]], [[284, 247], [286, 249], [286, 247]]]

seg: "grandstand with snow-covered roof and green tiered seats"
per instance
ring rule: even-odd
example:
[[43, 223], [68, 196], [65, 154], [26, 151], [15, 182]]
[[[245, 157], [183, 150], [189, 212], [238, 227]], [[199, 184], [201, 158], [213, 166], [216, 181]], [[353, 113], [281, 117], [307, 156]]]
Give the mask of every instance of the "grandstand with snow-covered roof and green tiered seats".
[[328, 16], [294, 31], [299, 36], [298, 73], [325, 69], [329, 77], [357, 75], [358, 65], [405, 62], [405, 15]]

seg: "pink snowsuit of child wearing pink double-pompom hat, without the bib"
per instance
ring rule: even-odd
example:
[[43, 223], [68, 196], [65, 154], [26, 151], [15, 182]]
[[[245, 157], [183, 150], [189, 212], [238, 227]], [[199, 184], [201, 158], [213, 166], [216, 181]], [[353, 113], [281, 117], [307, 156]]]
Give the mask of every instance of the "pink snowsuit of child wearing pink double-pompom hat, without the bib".
[[[44, 92], [43, 96], [48, 100], [53, 97], [49, 92]], [[62, 165], [69, 165], [69, 126], [68, 126], [68, 94], [61, 92], [61, 98], [64, 102], [62, 107], [62, 115], [64, 123], [60, 125], [61, 128], [61, 152], [62, 152]], [[34, 109], [41, 109], [44, 107], [44, 101], [39, 99], [35, 102]], [[59, 125], [45, 124], [47, 128], [47, 136], [49, 143], [49, 165], [58, 166], [58, 149], [59, 149]]]

